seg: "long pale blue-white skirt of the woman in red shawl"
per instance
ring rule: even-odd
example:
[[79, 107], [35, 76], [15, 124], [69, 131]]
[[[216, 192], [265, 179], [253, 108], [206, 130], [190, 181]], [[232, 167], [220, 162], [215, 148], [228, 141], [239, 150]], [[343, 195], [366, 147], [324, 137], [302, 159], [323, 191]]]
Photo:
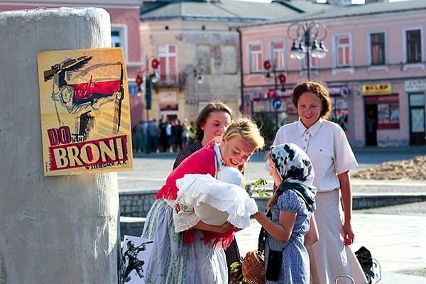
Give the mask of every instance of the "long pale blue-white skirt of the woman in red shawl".
[[204, 244], [200, 230], [194, 243], [184, 246], [182, 234], [175, 232], [173, 208], [164, 200], [156, 200], [148, 212], [142, 237], [154, 240], [145, 283], [228, 283], [224, 250]]

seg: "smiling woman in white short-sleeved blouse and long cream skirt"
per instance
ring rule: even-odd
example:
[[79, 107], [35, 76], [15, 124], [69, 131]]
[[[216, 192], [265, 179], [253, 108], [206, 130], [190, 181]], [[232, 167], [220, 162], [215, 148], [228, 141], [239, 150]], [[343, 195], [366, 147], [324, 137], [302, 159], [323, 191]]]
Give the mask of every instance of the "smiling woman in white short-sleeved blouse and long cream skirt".
[[349, 170], [358, 166], [354, 152], [342, 127], [326, 120], [332, 103], [325, 84], [298, 83], [293, 104], [300, 118], [278, 129], [273, 145], [295, 143], [307, 153], [315, 170], [315, 219], [320, 239], [308, 249], [310, 283], [334, 283], [339, 275], [350, 275], [356, 284], [367, 283], [350, 246], [355, 235]]

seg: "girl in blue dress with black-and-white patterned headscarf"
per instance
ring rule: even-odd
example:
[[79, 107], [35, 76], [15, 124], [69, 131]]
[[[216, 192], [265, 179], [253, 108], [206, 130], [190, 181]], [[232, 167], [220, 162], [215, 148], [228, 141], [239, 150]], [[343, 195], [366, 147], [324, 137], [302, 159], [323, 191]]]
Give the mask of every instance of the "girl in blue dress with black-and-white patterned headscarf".
[[318, 240], [314, 169], [307, 154], [293, 143], [271, 146], [268, 164], [278, 188], [268, 201], [268, 213], [253, 215], [266, 231], [266, 283], [309, 283], [306, 248]]

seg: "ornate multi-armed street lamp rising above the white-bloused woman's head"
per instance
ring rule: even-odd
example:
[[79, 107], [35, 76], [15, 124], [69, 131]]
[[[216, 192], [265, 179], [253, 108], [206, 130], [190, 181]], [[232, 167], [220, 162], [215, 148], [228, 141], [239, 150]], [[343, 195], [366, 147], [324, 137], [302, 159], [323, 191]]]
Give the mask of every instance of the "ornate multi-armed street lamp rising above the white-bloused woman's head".
[[[293, 33], [291, 32], [293, 30]], [[321, 36], [320, 33], [323, 35]], [[325, 58], [327, 48], [324, 38], [327, 38], [327, 27], [324, 23], [315, 21], [309, 23], [292, 23], [288, 26], [287, 34], [293, 40], [290, 58], [302, 60], [307, 55], [307, 80], [310, 80], [310, 57]]]

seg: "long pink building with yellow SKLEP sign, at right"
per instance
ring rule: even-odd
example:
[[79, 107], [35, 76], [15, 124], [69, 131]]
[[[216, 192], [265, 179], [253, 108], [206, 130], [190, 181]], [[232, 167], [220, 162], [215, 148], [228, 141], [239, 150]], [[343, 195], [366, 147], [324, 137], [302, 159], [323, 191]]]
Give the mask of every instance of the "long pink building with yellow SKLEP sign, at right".
[[[330, 119], [352, 146], [425, 145], [425, 13], [426, 2], [412, 0], [240, 27], [244, 111], [263, 112], [278, 124], [294, 121], [291, 90], [309, 76], [327, 83]], [[313, 58], [321, 41], [327, 52]], [[290, 58], [293, 42], [294, 48], [310, 44], [304, 59]]]

